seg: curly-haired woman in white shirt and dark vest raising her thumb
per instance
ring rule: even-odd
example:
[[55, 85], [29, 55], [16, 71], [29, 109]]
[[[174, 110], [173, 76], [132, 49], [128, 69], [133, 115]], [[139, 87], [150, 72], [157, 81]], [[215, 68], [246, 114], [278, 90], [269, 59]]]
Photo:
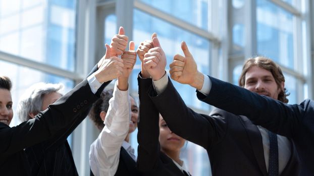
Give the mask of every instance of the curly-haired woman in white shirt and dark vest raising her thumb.
[[137, 128], [138, 117], [138, 107], [129, 95], [128, 79], [136, 61], [134, 42], [129, 45], [129, 51], [122, 49], [125, 67], [116, 81], [113, 95], [104, 93], [90, 112], [91, 119], [101, 130], [90, 146], [91, 175], [140, 175], [135, 167], [134, 148], [129, 143], [130, 133]]

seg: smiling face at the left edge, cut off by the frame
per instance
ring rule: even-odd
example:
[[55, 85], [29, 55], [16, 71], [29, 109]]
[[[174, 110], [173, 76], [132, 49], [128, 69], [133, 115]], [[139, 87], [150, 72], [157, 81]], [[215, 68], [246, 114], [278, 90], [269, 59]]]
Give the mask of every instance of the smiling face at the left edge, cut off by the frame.
[[10, 125], [13, 118], [11, 92], [0, 88], [0, 122]]

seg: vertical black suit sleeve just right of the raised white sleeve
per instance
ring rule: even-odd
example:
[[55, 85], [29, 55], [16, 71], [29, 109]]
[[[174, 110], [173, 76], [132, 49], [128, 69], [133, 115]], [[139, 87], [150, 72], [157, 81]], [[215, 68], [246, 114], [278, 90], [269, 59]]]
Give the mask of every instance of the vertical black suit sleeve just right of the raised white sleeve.
[[150, 78], [141, 78], [139, 74], [139, 122], [138, 122], [138, 157], [137, 168], [143, 173], [150, 173], [159, 168], [159, 112], [148, 96], [152, 87]]

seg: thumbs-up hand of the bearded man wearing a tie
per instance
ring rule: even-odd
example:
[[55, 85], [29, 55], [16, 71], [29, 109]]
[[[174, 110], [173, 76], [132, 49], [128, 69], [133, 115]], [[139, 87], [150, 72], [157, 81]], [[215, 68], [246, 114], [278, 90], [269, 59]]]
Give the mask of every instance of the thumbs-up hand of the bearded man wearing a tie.
[[148, 52], [144, 54], [143, 68], [149, 73], [153, 80], [159, 80], [165, 75], [167, 60], [158, 38], [154, 37], [152, 42], [154, 48], [149, 49]]

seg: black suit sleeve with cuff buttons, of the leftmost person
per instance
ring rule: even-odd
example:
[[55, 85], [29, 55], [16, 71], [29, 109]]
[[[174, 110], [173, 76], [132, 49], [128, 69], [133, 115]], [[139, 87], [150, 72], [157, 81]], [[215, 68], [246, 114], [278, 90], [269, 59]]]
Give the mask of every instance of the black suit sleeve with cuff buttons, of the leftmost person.
[[80, 113], [86, 111], [97, 99], [85, 79], [68, 94], [60, 98], [48, 109], [40, 112], [34, 119], [8, 128], [0, 127], [0, 153], [2, 156], [23, 150], [39, 142], [49, 139], [73, 122]]

